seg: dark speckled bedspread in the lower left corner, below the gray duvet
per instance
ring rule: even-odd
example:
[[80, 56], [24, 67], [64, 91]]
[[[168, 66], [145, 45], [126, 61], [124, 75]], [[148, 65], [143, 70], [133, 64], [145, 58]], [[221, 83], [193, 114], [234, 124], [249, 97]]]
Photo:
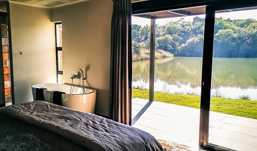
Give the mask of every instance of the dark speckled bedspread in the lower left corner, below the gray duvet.
[[49, 131], [30, 126], [0, 113], [1, 151], [88, 151]]

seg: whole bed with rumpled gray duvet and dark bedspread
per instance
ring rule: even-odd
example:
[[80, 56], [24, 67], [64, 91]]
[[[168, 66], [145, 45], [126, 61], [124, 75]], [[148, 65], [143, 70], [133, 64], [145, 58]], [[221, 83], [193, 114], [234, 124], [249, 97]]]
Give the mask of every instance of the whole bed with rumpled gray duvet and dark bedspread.
[[44, 101], [0, 108], [4, 150], [163, 151], [147, 132]]

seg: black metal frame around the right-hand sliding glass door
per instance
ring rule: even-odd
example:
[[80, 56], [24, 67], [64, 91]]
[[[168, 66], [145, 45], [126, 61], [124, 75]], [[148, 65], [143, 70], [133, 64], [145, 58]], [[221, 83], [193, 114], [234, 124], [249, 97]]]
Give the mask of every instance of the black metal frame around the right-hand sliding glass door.
[[[201, 83], [201, 106], [200, 106], [200, 133], [199, 133], [199, 146], [211, 150], [211, 151], [230, 151], [233, 149], [220, 146], [219, 144], [209, 143], [209, 114], [210, 114], [210, 103], [211, 103], [211, 81], [212, 81], [212, 59], [213, 59], [213, 47], [214, 47], [214, 28], [215, 28], [215, 14], [217, 11], [228, 10], [228, 9], [245, 9], [256, 7], [257, 2], [253, 3], [235, 3], [231, 5], [218, 5], [213, 4], [206, 6], [206, 20], [205, 25], [208, 29], [204, 31], [208, 33], [204, 35], [204, 52], [203, 56], [203, 68], [202, 72], [202, 83]], [[255, 8], [256, 9], [256, 8]], [[208, 19], [207, 19], [208, 18]], [[236, 150], [233, 150], [236, 151]]]

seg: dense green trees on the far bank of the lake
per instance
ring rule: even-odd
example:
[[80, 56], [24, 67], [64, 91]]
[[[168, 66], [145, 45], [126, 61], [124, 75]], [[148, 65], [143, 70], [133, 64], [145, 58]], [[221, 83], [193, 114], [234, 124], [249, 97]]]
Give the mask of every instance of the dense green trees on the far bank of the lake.
[[[174, 56], [202, 57], [204, 42], [204, 18], [193, 21], [170, 21], [156, 25], [155, 49]], [[150, 25], [132, 25], [132, 51], [139, 55], [142, 49], [150, 49]], [[214, 57], [256, 58], [257, 21], [255, 19], [231, 20], [215, 18]]]

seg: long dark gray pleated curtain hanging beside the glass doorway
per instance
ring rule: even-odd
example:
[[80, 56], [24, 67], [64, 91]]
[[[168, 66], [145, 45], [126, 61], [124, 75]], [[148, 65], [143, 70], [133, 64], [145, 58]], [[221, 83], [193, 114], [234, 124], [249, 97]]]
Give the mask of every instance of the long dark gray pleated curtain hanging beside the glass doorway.
[[109, 118], [131, 125], [131, 0], [113, 2]]

